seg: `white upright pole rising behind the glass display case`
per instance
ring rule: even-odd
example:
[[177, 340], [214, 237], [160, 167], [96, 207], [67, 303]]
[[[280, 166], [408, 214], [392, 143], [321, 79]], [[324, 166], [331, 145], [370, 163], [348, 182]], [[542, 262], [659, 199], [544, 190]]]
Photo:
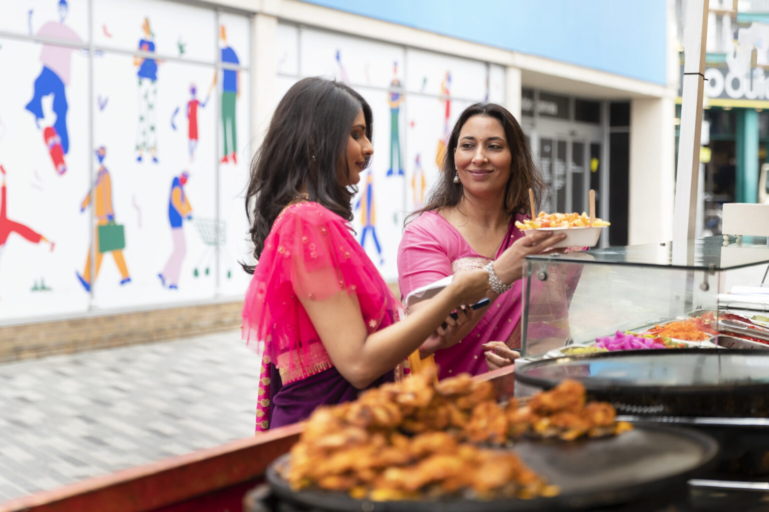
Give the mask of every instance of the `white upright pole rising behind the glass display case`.
[[697, 225], [708, 3], [709, 0], [688, 0], [684, 13], [684, 94], [673, 214], [673, 263], [677, 265], [686, 264], [687, 240], [694, 238]]

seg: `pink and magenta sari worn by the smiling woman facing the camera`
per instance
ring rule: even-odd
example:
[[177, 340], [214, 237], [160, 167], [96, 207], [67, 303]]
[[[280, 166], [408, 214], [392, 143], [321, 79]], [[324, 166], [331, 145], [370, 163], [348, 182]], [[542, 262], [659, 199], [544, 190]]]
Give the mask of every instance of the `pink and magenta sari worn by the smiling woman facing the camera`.
[[[513, 216], [497, 259], [505, 249], [524, 236], [515, 227], [515, 221], [525, 217]], [[476, 253], [463, 236], [439, 213], [422, 213], [406, 226], [398, 247], [398, 286], [401, 300], [411, 290], [451, 276], [462, 270], [481, 269], [492, 259]], [[498, 297], [478, 322], [478, 325], [457, 345], [435, 352], [438, 378], [446, 378], [461, 372], [478, 375], [488, 372], [488, 365], [481, 348], [486, 342], [505, 342], [511, 348], [521, 348], [521, 281]]]

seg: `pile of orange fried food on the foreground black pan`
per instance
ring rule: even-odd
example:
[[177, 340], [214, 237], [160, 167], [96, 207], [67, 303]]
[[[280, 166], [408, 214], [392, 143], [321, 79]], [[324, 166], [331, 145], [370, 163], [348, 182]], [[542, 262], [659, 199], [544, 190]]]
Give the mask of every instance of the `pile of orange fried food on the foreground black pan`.
[[524, 435], [571, 440], [631, 429], [614, 416], [608, 403], [586, 404], [575, 381], [527, 405], [513, 398], [501, 406], [490, 382], [458, 375], [434, 384], [429, 374], [414, 375], [318, 408], [281, 474], [295, 490], [319, 487], [358, 499], [554, 496], [558, 487], [501, 445]]

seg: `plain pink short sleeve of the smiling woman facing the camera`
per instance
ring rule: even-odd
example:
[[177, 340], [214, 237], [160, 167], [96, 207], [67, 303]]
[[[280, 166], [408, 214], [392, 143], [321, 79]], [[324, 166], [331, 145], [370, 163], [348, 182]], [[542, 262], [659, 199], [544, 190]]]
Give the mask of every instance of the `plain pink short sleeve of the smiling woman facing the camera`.
[[416, 221], [406, 227], [398, 246], [398, 286], [401, 300], [412, 290], [451, 276], [451, 260], [444, 245]]

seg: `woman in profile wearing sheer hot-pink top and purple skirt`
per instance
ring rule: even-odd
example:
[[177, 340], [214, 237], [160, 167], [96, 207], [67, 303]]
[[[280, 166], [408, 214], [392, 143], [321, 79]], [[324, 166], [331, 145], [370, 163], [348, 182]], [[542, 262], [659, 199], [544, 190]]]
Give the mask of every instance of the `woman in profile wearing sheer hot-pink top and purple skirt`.
[[400, 302], [355, 240], [351, 199], [368, 167], [371, 108], [345, 84], [298, 81], [280, 101], [251, 164], [246, 211], [256, 266], [243, 335], [263, 347], [257, 431], [301, 421], [324, 404], [392, 381], [450, 313], [481, 299], [488, 273], [457, 276], [398, 322]]

